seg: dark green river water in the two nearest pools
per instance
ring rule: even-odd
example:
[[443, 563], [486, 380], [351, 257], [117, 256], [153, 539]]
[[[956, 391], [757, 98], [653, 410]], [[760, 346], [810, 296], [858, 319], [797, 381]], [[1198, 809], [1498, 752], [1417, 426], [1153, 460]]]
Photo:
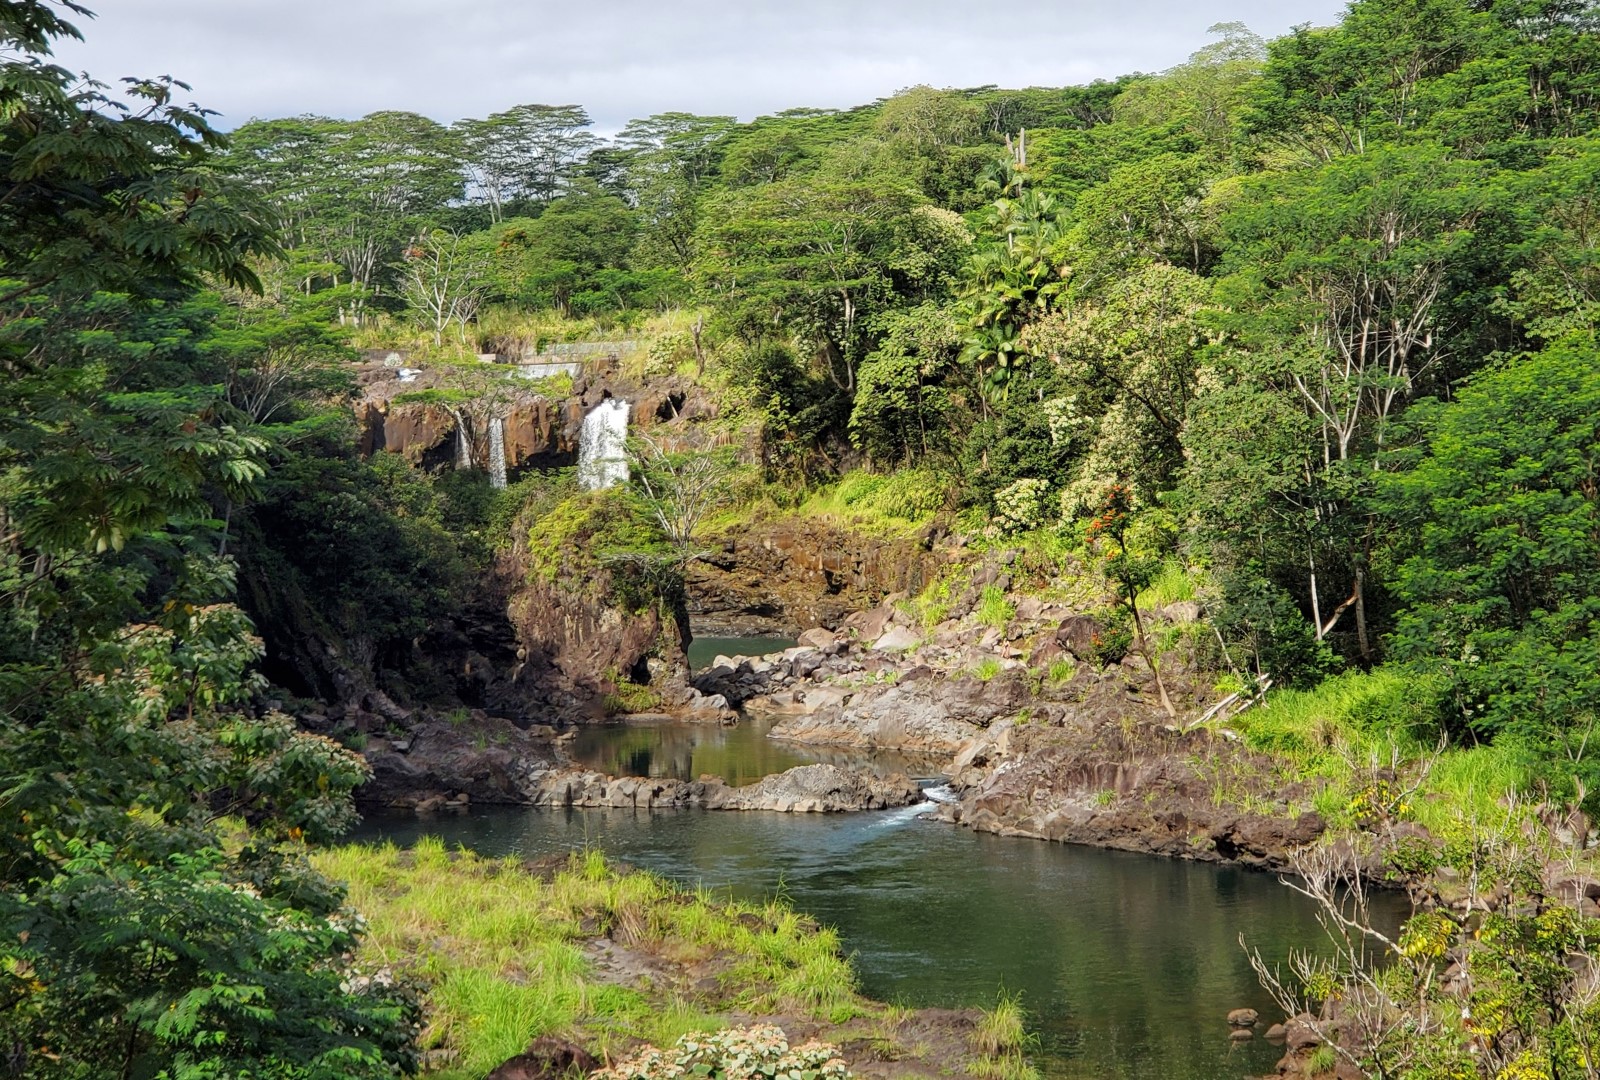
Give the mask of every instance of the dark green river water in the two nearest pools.
[[[750, 722], [608, 725], [581, 757], [656, 776], [722, 765], [750, 779], [829, 757]], [[914, 1006], [1018, 994], [1050, 1077], [1238, 1080], [1282, 1050], [1229, 1042], [1232, 1008], [1277, 1019], [1238, 944], [1269, 962], [1323, 941], [1307, 901], [1275, 877], [1096, 848], [1003, 838], [928, 821], [926, 806], [862, 814], [474, 808], [373, 818], [363, 838], [432, 834], [485, 854], [595, 846], [688, 885], [781, 894], [837, 926], [862, 990]], [[1386, 899], [1386, 898], [1381, 898]], [[1400, 917], [1398, 899], [1387, 915]]]

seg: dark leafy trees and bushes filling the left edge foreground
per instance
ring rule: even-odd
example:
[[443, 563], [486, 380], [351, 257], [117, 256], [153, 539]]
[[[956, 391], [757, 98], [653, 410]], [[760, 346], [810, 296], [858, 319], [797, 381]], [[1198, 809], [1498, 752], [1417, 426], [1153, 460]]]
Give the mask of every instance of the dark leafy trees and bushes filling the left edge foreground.
[[299, 848], [365, 765], [256, 704], [219, 554], [274, 392], [182, 378], [192, 286], [256, 285], [272, 238], [179, 85], [75, 90], [74, 34], [0, 3], [0, 1046], [42, 1080], [398, 1075], [411, 995]]

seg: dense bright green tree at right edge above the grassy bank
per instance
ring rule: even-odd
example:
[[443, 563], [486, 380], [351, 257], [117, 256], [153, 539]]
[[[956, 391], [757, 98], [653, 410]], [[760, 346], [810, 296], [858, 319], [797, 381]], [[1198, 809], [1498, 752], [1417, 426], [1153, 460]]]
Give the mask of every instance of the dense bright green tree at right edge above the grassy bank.
[[1571, 334], [1422, 411], [1384, 485], [1410, 538], [1392, 646], [1442, 675], [1458, 723], [1554, 742], [1594, 787], [1600, 701], [1600, 349]]

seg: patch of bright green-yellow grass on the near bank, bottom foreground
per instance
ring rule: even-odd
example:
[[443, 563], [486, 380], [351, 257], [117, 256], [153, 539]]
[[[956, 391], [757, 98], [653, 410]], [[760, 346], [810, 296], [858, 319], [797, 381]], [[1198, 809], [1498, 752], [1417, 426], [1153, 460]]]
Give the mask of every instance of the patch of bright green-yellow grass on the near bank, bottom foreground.
[[446, 1077], [483, 1077], [544, 1034], [670, 1045], [725, 1026], [707, 1002], [598, 979], [584, 942], [602, 933], [667, 965], [717, 958], [717, 1008], [832, 1022], [872, 1008], [832, 930], [776, 901], [685, 894], [653, 874], [619, 872], [600, 851], [574, 853], [547, 882], [515, 859], [453, 851], [437, 837], [410, 851], [346, 846], [314, 861], [349, 883], [368, 922], [366, 958], [426, 984], [422, 1043], [450, 1058]]

